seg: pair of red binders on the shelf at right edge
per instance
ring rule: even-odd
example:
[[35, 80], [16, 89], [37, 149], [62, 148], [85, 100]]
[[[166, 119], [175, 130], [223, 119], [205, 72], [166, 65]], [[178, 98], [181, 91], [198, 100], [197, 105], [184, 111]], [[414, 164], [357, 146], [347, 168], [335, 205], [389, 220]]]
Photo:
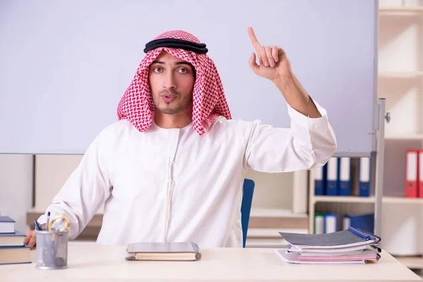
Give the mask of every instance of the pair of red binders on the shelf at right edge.
[[405, 153], [405, 197], [423, 198], [423, 149]]

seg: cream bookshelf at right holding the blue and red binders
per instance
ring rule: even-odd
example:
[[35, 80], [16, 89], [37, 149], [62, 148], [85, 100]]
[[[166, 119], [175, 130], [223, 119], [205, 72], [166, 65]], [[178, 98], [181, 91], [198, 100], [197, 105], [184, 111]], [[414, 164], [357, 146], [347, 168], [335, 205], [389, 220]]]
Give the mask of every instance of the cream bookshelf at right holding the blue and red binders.
[[[387, 240], [384, 240], [386, 245], [382, 243], [382, 247], [388, 252], [392, 250], [392, 255], [405, 266], [423, 269], [423, 235], [410, 232], [423, 233], [423, 197], [405, 197], [404, 165], [405, 149], [423, 148], [422, 0], [379, 1], [378, 64], [378, 97], [386, 99], [390, 119], [384, 127], [384, 161], [378, 164], [384, 166], [380, 201], [385, 224], [382, 224], [381, 235]], [[375, 178], [374, 173], [372, 177]], [[373, 191], [370, 197], [317, 196], [314, 195], [312, 182], [312, 177], [309, 177], [309, 233], [314, 230], [314, 214], [321, 212], [321, 207], [341, 215], [350, 212], [350, 209], [354, 209], [355, 213], [372, 210], [378, 200], [377, 191]], [[410, 214], [415, 217], [410, 219]], [[390, 228], [389, 225], [394, 227]], [[403, 238], [404, 235], [410, 238]], [[410, 255], [397, 254], [400, 248], [393, 244], [398, 241], [397, 238], [413, 241], [414, 245], [405, 247], [405, 252], [410, 252]]]

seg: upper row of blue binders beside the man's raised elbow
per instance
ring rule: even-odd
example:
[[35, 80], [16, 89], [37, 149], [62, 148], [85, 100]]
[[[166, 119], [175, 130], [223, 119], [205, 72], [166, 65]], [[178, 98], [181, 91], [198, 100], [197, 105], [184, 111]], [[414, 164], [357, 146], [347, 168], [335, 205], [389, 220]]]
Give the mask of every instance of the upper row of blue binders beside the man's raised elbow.
[[369, 197], [371, 162], [370, 157], [331, 157], [311, 171], [314, 195]]

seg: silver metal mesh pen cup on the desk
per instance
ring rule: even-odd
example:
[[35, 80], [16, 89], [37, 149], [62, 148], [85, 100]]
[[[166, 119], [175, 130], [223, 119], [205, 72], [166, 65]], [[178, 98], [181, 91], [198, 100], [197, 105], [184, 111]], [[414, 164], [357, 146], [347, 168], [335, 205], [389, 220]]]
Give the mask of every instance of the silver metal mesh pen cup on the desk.
[[68, 267], [68, 231], [36, 231], [37, 269]]

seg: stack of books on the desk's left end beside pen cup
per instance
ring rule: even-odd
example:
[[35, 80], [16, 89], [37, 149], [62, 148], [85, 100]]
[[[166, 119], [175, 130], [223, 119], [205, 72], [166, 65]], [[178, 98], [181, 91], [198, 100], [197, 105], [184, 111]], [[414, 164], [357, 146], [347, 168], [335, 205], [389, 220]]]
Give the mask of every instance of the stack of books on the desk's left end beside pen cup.
[[31, 262], [30, 247], [23, 245], [25, 234], [16, 231], [15, 223], [9, 216], [0, 216], [0, 265]]

